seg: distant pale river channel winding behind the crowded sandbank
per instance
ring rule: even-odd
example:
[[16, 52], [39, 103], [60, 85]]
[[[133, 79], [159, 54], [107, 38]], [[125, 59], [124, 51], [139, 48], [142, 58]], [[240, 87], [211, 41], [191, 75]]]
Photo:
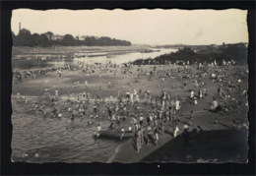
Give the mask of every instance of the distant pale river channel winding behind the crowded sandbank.
[[118, 53], [118, 54], [109, 54], [107, 56], [98, 56], [98, 57], [80, 57], [80, 58], [52, 58], [45, 60], [26, 60], [26, 59], [13, 59], [12, 67], [13, 69], [37, 69], [37, 68], [46, 68], [46, 67], [62, 67], [67, 64], [78, 64], [83, 62], [85, 64], [94, 64], [94, 63], [116, 63], [122, 64], [129, 61], [134, 61], [136, 59], [154, 59], [157, 56], [162, 54], [175, 52], [176, 49], [160, 49], [160, 52], [127, 52], [127, 53]]

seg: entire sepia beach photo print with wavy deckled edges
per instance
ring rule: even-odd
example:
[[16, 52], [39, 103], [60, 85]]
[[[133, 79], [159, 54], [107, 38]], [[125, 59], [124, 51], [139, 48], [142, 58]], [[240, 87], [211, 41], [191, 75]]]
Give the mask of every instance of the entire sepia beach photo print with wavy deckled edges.
[[12, 161], [247, 162], [247, 11], [12, 12]]

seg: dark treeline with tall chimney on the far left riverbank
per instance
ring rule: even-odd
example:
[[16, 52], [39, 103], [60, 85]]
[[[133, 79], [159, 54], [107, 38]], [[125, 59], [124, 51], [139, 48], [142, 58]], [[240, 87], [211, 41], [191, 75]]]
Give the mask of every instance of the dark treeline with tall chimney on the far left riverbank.
[[94, 36], [86, 36], [83, 39], [80, 39], [78, 36], [74, 37], [72, 34], [56, 36], [51, 31], [38, 34], [32, 33], [29, 29], [21, 29], [17, 35], [12, 32], [12, 36], [14, 46], [129, 46], [132, 44], [130, 41], [110, 38], [106, 36], [98, 38]]

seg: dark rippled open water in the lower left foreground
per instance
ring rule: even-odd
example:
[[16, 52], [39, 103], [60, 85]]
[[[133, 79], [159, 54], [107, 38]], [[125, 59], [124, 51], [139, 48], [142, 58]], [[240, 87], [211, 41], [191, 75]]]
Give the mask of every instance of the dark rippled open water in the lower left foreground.
[[[106, 162], [122, 142], [93, 138], [96, 125], [87, 119], [12, 116], [12, 160], [28, 162]], [[109, 123], [100, 122], [102, 128]]]

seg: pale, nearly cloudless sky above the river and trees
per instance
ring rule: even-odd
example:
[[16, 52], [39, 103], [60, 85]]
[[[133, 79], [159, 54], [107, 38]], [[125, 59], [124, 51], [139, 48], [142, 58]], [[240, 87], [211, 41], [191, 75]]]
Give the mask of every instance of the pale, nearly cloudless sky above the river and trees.
[[17, 9], [11, 28], [32, 33], [109, 36], [134, 44], [248, 42], [247, 11], [228, 10], [47, 10]]

